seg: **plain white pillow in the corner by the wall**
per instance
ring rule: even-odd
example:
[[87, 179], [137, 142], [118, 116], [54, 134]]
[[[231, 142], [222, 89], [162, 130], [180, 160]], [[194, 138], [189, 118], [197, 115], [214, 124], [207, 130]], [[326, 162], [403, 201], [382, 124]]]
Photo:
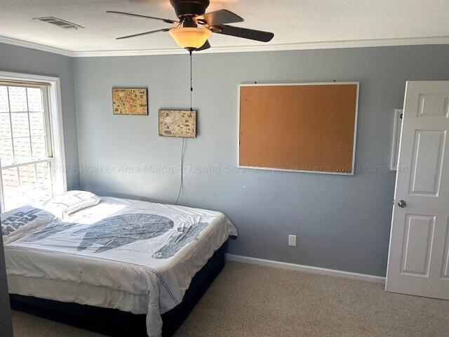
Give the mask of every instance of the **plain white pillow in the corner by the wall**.
[[100, 201], [101, 198], [91, 192], [69, 191], [46, 201], [44, 206], [52, 213], [60, 216], [64, 216], [64, 214], [69, 216], [77, 211], [81, 211], [81, 209], [95, 206]]

